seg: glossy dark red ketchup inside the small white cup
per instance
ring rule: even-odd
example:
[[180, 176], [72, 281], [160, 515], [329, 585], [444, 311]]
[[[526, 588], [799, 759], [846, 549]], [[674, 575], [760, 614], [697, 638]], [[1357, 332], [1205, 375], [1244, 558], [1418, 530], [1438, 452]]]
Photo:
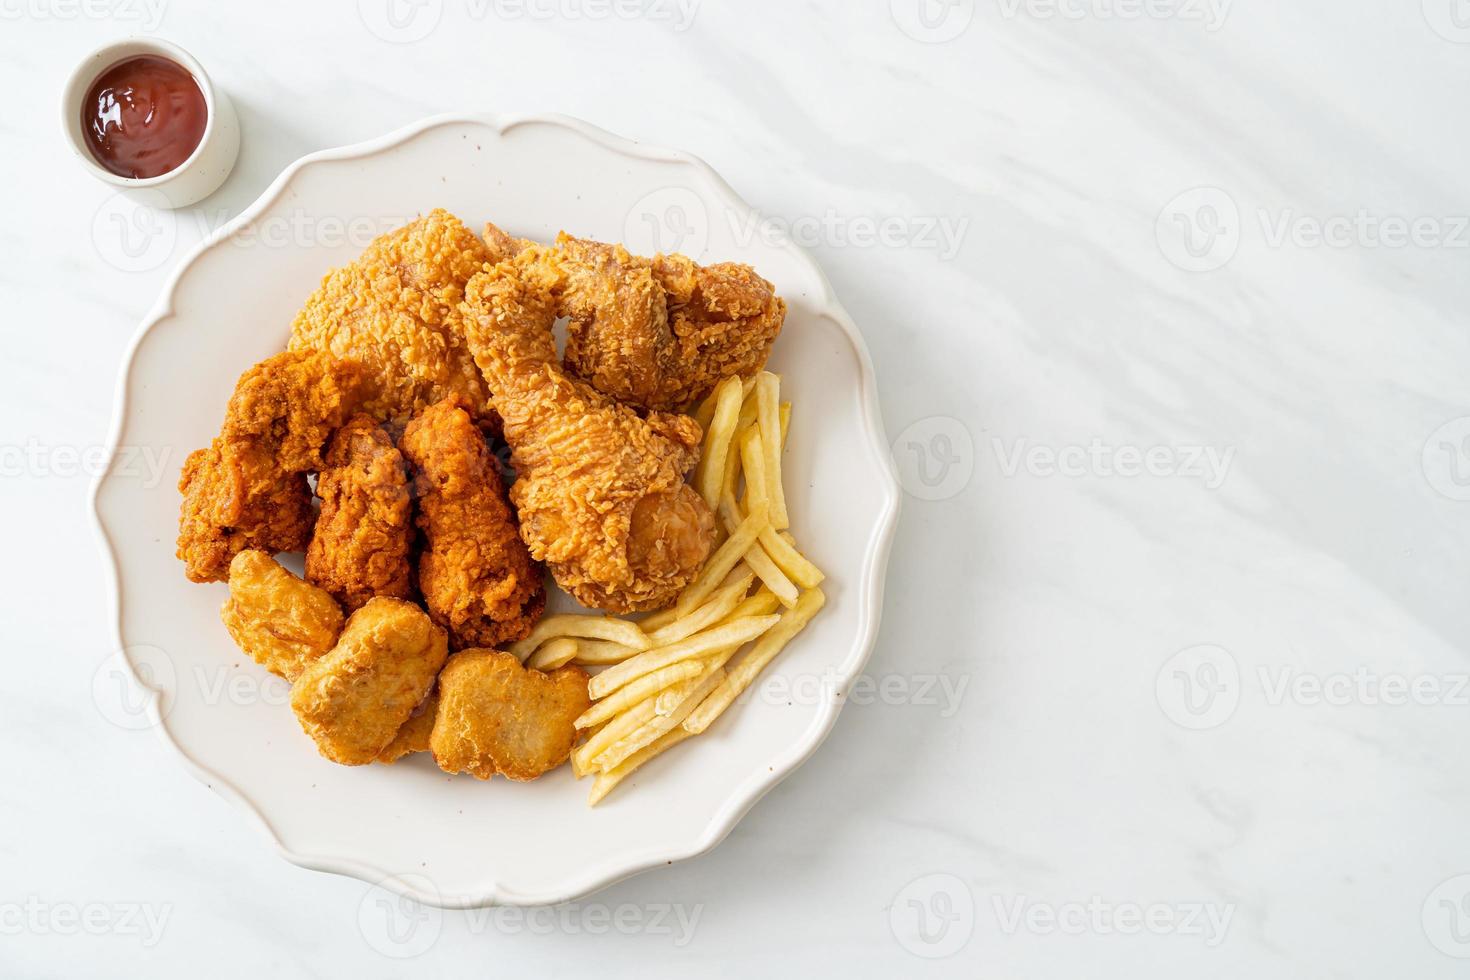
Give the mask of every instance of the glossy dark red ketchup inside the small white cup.
[[143, 54], [103, 72], [82, 101], [82, 138], [118, 176], [159, 176], [188, 160], [209, 110], [198, 82], [179, 65]]

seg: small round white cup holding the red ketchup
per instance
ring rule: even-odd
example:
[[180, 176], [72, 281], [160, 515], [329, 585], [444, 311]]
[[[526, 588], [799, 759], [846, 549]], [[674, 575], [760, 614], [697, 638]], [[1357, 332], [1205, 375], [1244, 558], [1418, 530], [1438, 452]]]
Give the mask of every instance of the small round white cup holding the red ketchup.
[[[204, 135], [200, 138], [194, 153], [184, 163], [168, 173], [147, 178], [119, 176], [97, 163], [87, 145], [82, 132], [82, 100], [91, 90], [93, 82], [113, 65], [131, 57], [153, 54], [166, 57], [179, 65], [198, 84], [204, 94]], [[129, 37], [121, 41], [104, 44], [72, 71], [62, 93], [62, 132], [72, 147], [72, 153], [82, 166], [103, 184], [112, 184], [123, 192], [147, 191], [140, 198], [150, 203], [163, 200], [169, 207], [187, 207], [213, 194], [235, 166], [240, 154], [240, 119], [235, 107], [223, 91], [215, 88], [209, 75], [194, 57], [178, 44], [160, 41], [148, 37]]]

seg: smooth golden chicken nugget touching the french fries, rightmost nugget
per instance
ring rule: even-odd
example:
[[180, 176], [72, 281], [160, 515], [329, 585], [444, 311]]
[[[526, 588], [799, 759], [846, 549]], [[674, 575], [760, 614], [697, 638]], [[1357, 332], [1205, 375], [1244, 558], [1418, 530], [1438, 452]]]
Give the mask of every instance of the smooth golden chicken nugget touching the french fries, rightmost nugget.
[[587, 671], [542, 673], [512, 654], [466, 649], [440, 674], [440, 707], [429, 745], [445, 773], [537, 779], [567, 760], [576, 717], [591, 707]]

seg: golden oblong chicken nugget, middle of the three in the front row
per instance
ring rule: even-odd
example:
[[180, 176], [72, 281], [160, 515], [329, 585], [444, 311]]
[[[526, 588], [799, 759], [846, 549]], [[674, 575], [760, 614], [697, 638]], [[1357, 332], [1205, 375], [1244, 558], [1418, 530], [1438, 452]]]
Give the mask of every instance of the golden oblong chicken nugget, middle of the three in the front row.
[[366, 765], [423, 702], [447, 657], [444, 630], [417, 605], [369, 599], [291, 685], [291, 708], [325, 758]]

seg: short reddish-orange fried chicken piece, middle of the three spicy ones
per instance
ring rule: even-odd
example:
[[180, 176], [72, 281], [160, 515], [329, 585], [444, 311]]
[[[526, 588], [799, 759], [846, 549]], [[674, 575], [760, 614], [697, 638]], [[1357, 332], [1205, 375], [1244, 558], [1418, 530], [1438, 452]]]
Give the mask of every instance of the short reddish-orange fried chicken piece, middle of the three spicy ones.
[[348, 610], [375, 595], [413, 595], [413, 501], [403, 454], [372, 416], [337, 430], [316, 478], [322, 513], [306, 577]]

